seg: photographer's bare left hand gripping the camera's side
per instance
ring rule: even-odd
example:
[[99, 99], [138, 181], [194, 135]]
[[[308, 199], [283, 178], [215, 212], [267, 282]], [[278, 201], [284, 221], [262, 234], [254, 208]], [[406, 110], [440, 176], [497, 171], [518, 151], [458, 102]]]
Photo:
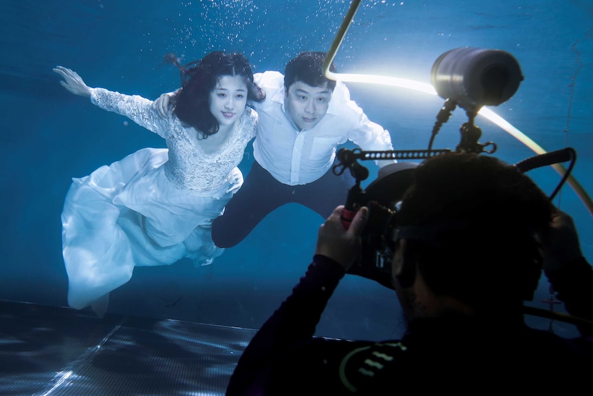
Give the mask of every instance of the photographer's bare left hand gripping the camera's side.
[[343, 205], [336, 207], [319, 227], [315, 254], [331, 258], [347, 270], [360, 257], [360, 233], [367, 222], [368, 209], [362, 207], [356, 212], [349, 229], [344, 228], [340, 219], [343, 209]]

